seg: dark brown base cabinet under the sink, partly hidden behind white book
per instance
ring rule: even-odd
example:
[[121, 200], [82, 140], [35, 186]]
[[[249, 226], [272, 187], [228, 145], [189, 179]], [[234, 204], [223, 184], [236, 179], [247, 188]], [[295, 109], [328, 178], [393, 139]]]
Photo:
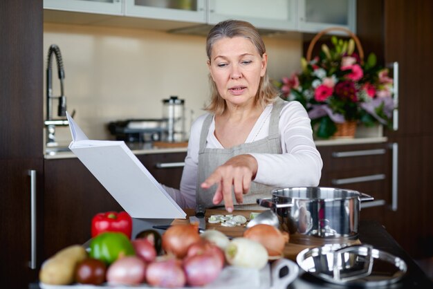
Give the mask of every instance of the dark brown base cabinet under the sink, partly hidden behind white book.
[[[138, 159], [158, 182], [179, 187], [186, 153], [140, 154]], [[122, 207], [77, 158], [44, 163], [44, 259], [91, 238], [91, 219]]]

